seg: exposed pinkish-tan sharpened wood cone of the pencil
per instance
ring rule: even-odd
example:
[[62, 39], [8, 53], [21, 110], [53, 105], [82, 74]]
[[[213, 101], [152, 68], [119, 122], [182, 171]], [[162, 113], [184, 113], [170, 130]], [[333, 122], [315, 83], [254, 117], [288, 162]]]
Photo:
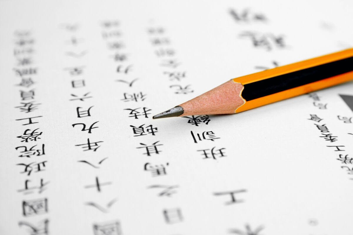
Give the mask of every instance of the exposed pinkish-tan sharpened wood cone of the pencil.
[[241, 97], [244, 86], [233, 80], [227, 81], [212, 90], [199, 95], [179, 105], [183, 107], [181, 116], [204, 114], [230, 114], [235, 113], [245, 100]]

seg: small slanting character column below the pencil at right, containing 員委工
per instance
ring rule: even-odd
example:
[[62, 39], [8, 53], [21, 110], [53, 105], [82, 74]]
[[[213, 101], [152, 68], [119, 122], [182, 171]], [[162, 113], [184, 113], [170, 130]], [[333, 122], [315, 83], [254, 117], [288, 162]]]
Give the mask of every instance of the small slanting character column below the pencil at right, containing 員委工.
[[[334, 152], [337, 152], [335, 153], [335, 157], [337, 161], [340, 161], [341, 168], [344, 169], [347, 174], [353, 175], [353, 158], [347, 154], [346, 144], [343, 145], [340, 143], [338, 136], [332, 134], [326, 124], [321, 123], [321, 121], [324, 119], [318, 117], [318, 115], [311, 114], [310, 118], [308, 119], [315, 122], [314, 125], [321, 132], [319, 137], [323, 138], [325, 141], [328, 141], [326, 147], [333, 150]], [[353, 180], [353, 176], [350, 179]]]

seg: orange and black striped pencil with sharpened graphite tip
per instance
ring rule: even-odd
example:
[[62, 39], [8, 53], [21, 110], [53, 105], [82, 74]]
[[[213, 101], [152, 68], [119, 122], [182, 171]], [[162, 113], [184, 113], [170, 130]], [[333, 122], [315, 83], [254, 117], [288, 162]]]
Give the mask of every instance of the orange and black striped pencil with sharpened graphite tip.
[[231, 79], [153, 117], [231, 114], [353, 80], [353, 48]]

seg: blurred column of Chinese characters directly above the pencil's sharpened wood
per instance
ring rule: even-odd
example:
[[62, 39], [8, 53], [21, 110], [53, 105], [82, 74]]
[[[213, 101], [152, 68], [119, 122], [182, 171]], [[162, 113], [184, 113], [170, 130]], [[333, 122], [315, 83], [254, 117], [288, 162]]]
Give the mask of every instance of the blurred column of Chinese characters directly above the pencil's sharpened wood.
[[[163, 27], [149, 27], [147, 30], [154, 53], [159, 59], [162, 74], [173, 84], [169, 86], [175, 94], [189, 94], [194, 92], [191, 84], [185, 83], [187, 73], [182, 69], [182, 63], [176, 57], [176, 51], [171, 47], [170, 39]], [[179, 67], [181, 66], [181, 68]]]

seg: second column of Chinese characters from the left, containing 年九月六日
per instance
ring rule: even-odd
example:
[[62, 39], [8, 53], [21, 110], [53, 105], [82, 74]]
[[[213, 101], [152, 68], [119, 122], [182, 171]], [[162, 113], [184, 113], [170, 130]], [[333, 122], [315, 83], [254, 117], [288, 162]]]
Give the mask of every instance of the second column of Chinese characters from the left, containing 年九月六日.
[[[65, 53], [66, 56], [72, 58], [72, 66], [63, 68], [67, 73], [66, 75], [70, 77], [70, 85], [72, 93], [68, 102], [75, 104], [75, 108], [72, 110], [74, 116], [77, 118], [77, 122], [72, 123], [71, 127], [77, 135], [85, 135], [84, 138], [80, 137], [80, 142], [74, 144], [76, 148], [83, 151], [87, 158], [80, 158], [77, 162], [78, 164], [84, 164], [88, 168], [94, 168], [95, 171], [106, 164], [108, 157], [98, 156], [98, 160], [88, 159], [89, 153], [99, 154], [99, 148], [104, 142], [101, 139], [96, 139], [94, 133], [99, 128], [100, 122], [94, 118], [96, 106], [91, 103], [93, 99], [93, 94], [88, 88], [92, 88], [89, 85], [89, 80], [85, 74], [86, 64], [84, 63], [85, 57], [88, 55], [89, 50], [86, 48], [82, 32], [80, 31], [79, 24], [65, 24], [65, 31], [70, 39], [66, 42], [68, 44], [68, 49]], [[98, 175], [94, 177], [87, 177], [90, 182], [83, 186], [84, 190], [95, 190], [97, 193], [102, 193], [105, 186], [112, 184], [110, 181], [102, 180]], [[108, 202], [108, 205], [100, 205], [96, 202], [89, 201], [84, 202], [86, 206], [92, 206], [102, 213], [109, 212], [109, 208], [116, 202], [116, 198], [113, 198]], [[93, 224], [93, 233], [96, 234], [106, 234], [110, 231], [112, 235], [120, 234], [120, 224], [119, 222], [103, 222]]]

